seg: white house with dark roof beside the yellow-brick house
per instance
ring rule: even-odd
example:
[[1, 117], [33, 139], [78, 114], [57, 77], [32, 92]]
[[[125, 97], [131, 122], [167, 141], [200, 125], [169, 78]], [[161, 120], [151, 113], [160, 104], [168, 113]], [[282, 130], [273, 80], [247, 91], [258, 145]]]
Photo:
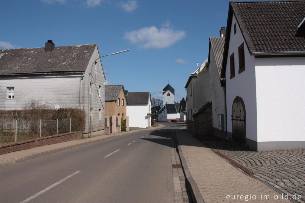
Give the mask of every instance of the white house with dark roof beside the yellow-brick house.
[[129, 127], [151, 128], [150, 92], [126, 92], [128, 101], [126, 114], [129, 116]]

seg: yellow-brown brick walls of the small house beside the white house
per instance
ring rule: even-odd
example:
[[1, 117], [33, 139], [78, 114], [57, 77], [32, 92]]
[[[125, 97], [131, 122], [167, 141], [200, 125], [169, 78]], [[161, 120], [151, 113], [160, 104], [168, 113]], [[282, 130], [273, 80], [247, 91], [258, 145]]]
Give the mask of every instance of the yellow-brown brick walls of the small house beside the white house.
[[[120, 114], [121, 119], [126, 119], [126, 96], [123, 88], [121, 89], [118, 98], [120, 98], [120, 105], [118, 105], [118, 100], [110, 102], [105, 101], [105, 116], [119, 116]], [[124, 99], [124, 103], [122, 99]]]

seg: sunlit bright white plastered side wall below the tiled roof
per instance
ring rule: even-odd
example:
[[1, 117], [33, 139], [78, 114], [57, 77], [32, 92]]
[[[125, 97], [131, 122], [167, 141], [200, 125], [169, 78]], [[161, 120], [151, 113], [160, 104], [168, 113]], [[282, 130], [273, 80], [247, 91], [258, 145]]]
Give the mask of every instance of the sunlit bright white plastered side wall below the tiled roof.
[[305, 141], [305, 58], [256, 58], [255, 74], [258, 141]]

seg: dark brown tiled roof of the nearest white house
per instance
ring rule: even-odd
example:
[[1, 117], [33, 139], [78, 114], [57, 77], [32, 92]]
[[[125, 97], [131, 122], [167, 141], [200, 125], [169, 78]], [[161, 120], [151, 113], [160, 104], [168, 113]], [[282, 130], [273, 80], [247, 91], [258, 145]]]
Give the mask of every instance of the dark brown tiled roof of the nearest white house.
[[298, 28], [305, 17], [305, 1], [230, 1], [230, 5], [250, 53], [305, 51], [305, 28]]

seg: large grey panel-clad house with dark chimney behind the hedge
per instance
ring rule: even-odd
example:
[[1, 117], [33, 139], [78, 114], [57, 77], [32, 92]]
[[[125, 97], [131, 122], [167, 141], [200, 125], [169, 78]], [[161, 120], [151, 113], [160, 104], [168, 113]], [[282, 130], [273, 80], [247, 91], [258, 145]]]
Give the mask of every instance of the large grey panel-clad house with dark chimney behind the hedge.
[[33, 99], [48, 108], [80, 108], [87, 115], [84, 136], [90, 112], [92, 135], [104, 134], [105, 74], [99, 57], [97, 44], [55, 47], [51, 40], [40, 48], [0, 50], [0, 110], [23, 109]]

